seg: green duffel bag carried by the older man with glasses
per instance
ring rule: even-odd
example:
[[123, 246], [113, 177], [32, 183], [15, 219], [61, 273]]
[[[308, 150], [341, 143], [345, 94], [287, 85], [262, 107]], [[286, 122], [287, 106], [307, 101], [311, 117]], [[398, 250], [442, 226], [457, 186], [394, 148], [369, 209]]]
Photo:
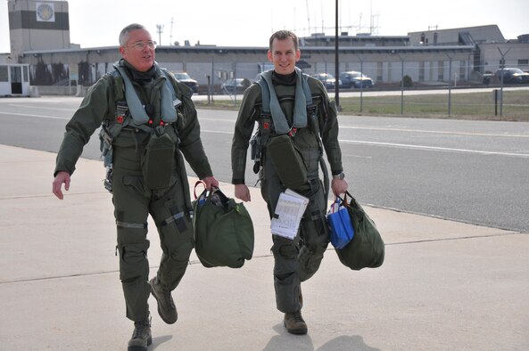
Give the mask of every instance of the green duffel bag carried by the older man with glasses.
[[194, 251], [203, 266], [240, 268], [252, 259], [252, 217], [243, 203], [214, 188], [193, 201], [193, 210]]

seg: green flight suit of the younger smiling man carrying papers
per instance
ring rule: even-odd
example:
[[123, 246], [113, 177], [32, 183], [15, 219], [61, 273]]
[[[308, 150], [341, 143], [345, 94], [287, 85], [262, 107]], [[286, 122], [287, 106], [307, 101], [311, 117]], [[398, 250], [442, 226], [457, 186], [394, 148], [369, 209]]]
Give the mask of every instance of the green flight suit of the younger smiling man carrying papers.
[[[302, 152], [309, 180], [306, 185], [293, 189], [293, 191], [309, 197], [310, 205], [303, 215], [299, 235], [293, 241], [272, 235], [276, 303], [277, 309], [284, 313], [292, 313], [301, 309], [299, 301], [301, 282], [308, 280], [318, 271], [329, 242], [326, 225], [326, 190], [318, 172], [318, 162], [322, 153], [318, 143], [319, 137], [326, 151], [332, 174], [339, 174], [343, 170], [335, 103], [329, 101], [326, 89], [321, 82], [315, 78], [309, 77], [308, 79], [313, 104], [317, 105], [318, 131], [312, 130], [308, 122], [308, 127], [298, 128], [293, 137], [293, 142]], [[293, 123], [294, 93], [297, 88], [295, 81], [295, 73], [286, 77], [277, 76], [275, 73], [272, 76], [277, 98], [289, 126]], [[253, 84], [244, 92], [236, 120], [231, 151], [233, 184], [244, 184], [246, 153], [254, 124], [260, 118], [261, 104], [260, 86]], [[269, 141], [273, 136], [272, 129]], [[274, 215], [279, 194], [285, 191], [285, 186], [281, 183], [276, 169], [267, 156], [266, 147], [265, 144], [262, 151], [260, 183], [261, 195], [267, 202], [271, 218]]]

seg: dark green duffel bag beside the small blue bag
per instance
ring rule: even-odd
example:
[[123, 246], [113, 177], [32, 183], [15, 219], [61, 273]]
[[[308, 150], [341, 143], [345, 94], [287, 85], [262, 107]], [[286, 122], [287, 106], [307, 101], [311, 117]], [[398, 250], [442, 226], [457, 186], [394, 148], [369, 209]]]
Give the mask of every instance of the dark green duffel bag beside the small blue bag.
[[384, 241], [375, 222], [349, 192], [345, 192], [343, 204], [351, 216], [354, 237], [343, 249], [335, 249], [340, 261], [355, 271], [379, 267], [384, 263]]

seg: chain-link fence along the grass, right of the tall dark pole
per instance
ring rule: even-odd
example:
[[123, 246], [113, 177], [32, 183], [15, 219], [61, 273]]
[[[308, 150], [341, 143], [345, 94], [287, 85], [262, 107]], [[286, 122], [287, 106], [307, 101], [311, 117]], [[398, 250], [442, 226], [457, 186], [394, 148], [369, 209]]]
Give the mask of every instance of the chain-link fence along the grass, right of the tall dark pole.
[[[338, 102], [343, 113], [529, 120], [529, 68], [525, 64], [505, 67], [499, 62], [484, 70], [448, 58], [360, 62], [350, 67], [360, 75], [351, 86], [341, 69]], [[327, 71], [333, 73], [328, 67]], [[358, 84], [368, 80], [373, 84]], [[328, 93], [336, 96], [334, 85]]]

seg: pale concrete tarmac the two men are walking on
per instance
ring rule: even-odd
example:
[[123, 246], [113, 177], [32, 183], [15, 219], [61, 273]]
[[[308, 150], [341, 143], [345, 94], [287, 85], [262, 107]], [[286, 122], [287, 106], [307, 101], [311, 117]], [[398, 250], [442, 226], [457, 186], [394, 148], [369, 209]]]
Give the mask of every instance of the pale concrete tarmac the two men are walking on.
[[[126, 349], [133, 323], [103, 165], [80, 159], [58, 200], [54, 158], [0, 145], [0, 350]], [[233, 197], [232, 185], [220, 188]], [[149, 300], [149, 350], [529, 349], [528, 233], [365, 207], [386, 243], [384, 265], [351, 271], [328, 249], [302, 284], [309, 333], [294, 336], [276, 309], [259, 189], [246, 207], [255, 225], [252, 260], [240, 269], [205, 268], [193, 253], [173, 292], [178, 322], [161, 321]], [[161, 249], [153, 222], [149, 228], [154, 274]]]

